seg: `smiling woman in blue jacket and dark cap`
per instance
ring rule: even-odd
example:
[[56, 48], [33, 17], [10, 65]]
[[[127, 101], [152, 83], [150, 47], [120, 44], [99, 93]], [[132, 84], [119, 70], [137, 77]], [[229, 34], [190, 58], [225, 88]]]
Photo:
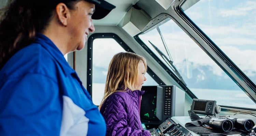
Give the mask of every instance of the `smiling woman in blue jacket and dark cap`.
[[[84, 47], [115, 6], [14, 0], [0, 22], [0, 135], [105, 135], [105, 122], [63, 55]], [[101, 130], [101, 131], [98, 131]]]

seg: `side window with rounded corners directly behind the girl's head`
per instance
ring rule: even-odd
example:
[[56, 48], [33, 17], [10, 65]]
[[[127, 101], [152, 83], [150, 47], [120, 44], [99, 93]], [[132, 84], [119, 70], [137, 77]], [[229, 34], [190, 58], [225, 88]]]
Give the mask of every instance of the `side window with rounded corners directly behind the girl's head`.
[[[99, 105], [103, 98], [109, 63], [118, 52], [125, 52], [125, 49], [112, 38], [97, 38], [93, 41], [92, 99], [95, 105]], [[159, 85], [148, 73], [145, 77], [147, 80], [144, 86]]]

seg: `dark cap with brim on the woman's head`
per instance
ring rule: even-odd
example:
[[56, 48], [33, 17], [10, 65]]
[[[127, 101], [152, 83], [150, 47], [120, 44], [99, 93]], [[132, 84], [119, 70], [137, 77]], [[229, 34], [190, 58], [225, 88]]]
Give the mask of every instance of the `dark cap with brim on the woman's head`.
[[104, 1], [104, 0], [86, 0], [95, 4], [95, 12], [93, 13], [92, 19], [102, 19], [110, 13], [116, 6]]

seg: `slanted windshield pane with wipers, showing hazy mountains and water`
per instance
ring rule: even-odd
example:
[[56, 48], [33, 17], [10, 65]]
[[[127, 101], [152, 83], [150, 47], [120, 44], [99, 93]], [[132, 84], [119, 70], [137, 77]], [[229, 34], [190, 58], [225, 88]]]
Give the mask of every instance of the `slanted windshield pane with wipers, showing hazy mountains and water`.
[[173, 20], [167, 18], [160, 24], [139, 38], [177, 78], [181, 75], [179, 79], [198, 99], [255, 109], [255, 103], [244, 91]]

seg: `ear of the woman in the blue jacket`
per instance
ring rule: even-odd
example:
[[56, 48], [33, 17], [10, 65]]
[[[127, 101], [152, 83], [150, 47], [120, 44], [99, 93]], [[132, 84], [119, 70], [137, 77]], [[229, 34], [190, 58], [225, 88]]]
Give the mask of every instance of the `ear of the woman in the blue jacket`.
[[64, 3], [59, 3], [56, 6], [56, 14], [59, 22], [66, 27], [68, 25], [67, 20], [70, 16], [70, 10], [68, 9], [67, 5]]

